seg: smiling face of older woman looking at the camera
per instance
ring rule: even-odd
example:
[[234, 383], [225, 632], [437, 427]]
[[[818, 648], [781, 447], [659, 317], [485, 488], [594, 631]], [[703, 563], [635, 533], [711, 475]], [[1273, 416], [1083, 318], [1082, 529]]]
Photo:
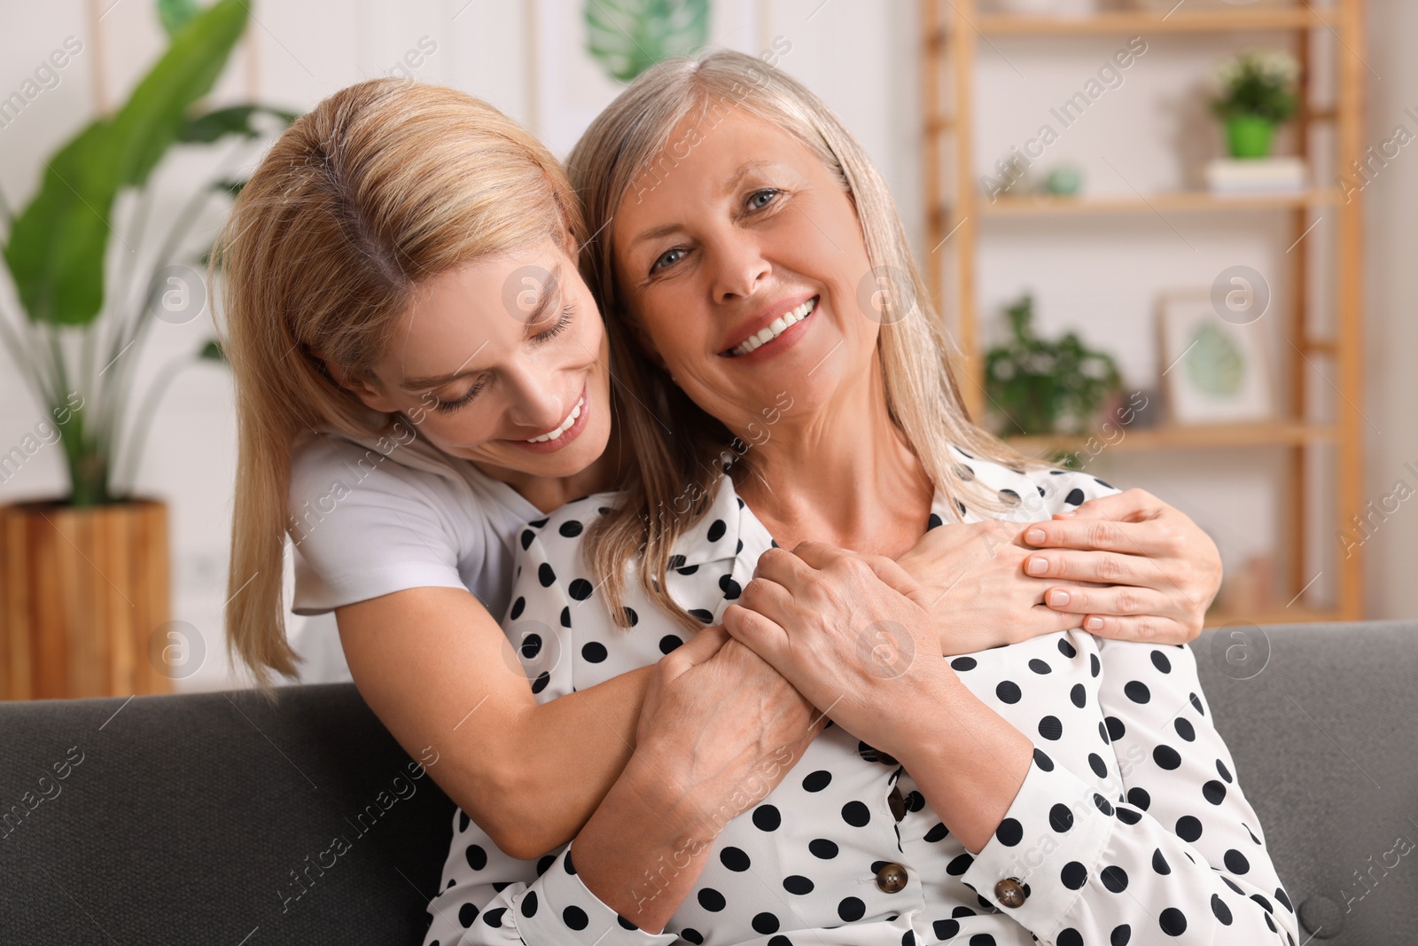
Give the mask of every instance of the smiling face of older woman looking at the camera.
[[872, 376], [878, 322], [852, 201], [777, 126], [696, 109], [611, 224], [615, 278], [647, 347], [700, 408], [743, 431], [787, 393], [811, 414]]

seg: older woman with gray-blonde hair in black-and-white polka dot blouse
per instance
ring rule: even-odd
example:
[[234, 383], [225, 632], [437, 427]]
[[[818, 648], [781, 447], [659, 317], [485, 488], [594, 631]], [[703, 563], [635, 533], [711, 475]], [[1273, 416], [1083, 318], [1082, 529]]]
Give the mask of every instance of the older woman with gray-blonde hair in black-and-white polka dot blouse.
[[[719, 52], [641, 77], [570, 170], [638, 464], [522, 533], [506, 630], [542, 699], [652, 661], [695, 685], [647, 694], [559, 852], [462, 824], [428, 942], [1293, 943], [1190, 650], [1059, 631], [934, 660], [892, 556], [1116, 491], [970, 425], [841, 123]], [[862, 301], [882, 272], [906, 278]], [[743, 679], [706, 671], [726, 654]], [[811, 708], [735, 701], [753, 658]]]

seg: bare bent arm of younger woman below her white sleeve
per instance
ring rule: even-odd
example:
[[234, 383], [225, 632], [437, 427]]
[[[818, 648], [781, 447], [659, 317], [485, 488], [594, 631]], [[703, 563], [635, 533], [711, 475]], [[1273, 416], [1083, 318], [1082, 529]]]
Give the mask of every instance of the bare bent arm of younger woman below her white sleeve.
[[625, 767], [652, 667], [537, 705], [468, 591], [408, 589], [335, 614], [370, 709], [414, 757], [438, 753], [430, 774], [512, 857], [576, 837]]

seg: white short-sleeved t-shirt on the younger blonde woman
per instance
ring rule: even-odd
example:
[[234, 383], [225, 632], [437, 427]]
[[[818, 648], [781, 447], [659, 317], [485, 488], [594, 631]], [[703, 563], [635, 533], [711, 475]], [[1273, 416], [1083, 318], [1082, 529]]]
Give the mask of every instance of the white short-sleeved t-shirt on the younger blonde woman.
[[[301, 616], [329, 614], [403, 589], [475, 594], [496, 618], [506, 610], [518, 529], [542, 512], [415, 437], [350, 440], [305, 433], [292, 450], [289, 512], [295, 599]], [[301, 682], [350, 679], [333, 616], [292, 633], [306, 657]]]

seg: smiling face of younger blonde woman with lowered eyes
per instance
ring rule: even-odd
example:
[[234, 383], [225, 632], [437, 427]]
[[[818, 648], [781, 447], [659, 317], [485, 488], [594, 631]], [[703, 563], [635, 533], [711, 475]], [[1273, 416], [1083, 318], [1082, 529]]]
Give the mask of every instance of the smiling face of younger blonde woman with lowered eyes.
[[376, 382], [352, 387], [454, 457], [570, 477], [610, 437], [605, 365], [596, 302], [566, 248], [547, 240], [421, 282]]

